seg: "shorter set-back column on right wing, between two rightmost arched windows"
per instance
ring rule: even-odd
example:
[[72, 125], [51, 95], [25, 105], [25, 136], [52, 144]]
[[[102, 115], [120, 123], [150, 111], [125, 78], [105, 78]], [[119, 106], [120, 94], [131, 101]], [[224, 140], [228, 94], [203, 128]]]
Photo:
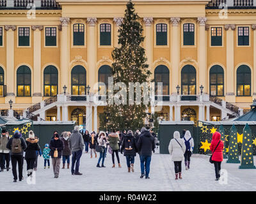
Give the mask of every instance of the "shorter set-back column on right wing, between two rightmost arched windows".
[[236, 25], [225, 25], [227, 31], [227, 92], [225, 100], [230, 103], [236, 102], [234, 83], [234, 30]]

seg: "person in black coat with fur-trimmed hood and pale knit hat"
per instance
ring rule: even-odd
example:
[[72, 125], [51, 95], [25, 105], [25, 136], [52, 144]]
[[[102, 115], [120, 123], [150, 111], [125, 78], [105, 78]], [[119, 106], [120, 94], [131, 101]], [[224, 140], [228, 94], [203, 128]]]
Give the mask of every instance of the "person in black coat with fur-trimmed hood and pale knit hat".
[[26, 138], [27, 148], [25, 149], [25, 159], [27, 162], [28, 177], [32, 175], [35, 161], [36, 161], [36, 151], [40, 150], [38, 145], [38, 139], [35, 138], [33, 131], [29, 131], [28, 138]]

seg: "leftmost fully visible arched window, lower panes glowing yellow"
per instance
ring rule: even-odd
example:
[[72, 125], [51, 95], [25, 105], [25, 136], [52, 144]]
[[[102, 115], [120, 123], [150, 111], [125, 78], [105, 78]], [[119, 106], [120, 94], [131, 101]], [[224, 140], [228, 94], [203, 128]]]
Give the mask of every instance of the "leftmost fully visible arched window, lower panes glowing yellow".
[[31, 70], [25, 65], [17, 69], [17, 96], [31, 96]]

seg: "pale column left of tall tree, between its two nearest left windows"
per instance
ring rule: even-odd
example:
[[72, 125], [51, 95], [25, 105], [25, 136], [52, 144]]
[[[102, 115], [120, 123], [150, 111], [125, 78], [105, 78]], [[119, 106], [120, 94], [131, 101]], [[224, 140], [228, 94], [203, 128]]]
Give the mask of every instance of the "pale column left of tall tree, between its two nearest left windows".
[[88, 22], [88, 40], [87, 40], [87, 60], [88, 60], [88, 85], [90, 85], [90, 87], [93, 87], [93, 85], [97, 82], [96, 81], [96, 76], [97, 74], [95, 74], [95, 70], [96, 68], [96, 62], [97, 62], [97, 40], [96, 40], [96, 22], [97, 22], [97, 18], [87, 18], [87, 22]]

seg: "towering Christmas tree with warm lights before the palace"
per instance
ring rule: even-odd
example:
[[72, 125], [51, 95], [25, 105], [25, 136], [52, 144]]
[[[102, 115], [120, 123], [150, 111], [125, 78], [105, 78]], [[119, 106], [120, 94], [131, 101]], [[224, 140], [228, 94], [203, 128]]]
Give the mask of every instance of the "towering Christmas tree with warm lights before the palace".
[[[141, 47], [144, 41], [142, 36], [143, 27], [139, 22], [139, 16], [135, 13], [134, 4], [129, 1], [125, 10], [125, 16], [120, 29], [118, 30], [118, 47], [112, 52], [113, 64], [113, 84], [123, 82], [127, 87], [126, 96], [129, 91], [129, 82], [140, 83], [148, 82], [150, 80], [150, 71], [147, 58], [145, 57], [145, 49]], [[124, 85], [124, 87], [125, 87]], [[122, 89], [123, 87], [121, 87]], [[130, 88], [131, 89], [131, 88]], [[132, 88], [134, 89], [134, 88]], [[141, 93], [143, 89], [141, 89]], [[108, 106], [104, 108], [104, 113], [100, 115], [100, 127], [108, 129], [136, 129], [143, 126], [146, 117], [147, 104], [143, 104], [143, 97], [141, 97], [140, 105], [122, 103], [120, 105], [109, 103], [109, 98], [115, 96], [118, 91], [108, 90]], [[126, 98], [131, 98], [136, 94], [133, 90]], [[144, 94], [144, 93], [143, 93]], [[125, 102], [125, 98], [120, 99]], [[135, 100], [134, 100], [135, 102]], [[108, 117], [108, 118], [107, 118]]]

